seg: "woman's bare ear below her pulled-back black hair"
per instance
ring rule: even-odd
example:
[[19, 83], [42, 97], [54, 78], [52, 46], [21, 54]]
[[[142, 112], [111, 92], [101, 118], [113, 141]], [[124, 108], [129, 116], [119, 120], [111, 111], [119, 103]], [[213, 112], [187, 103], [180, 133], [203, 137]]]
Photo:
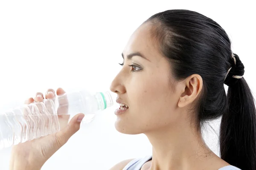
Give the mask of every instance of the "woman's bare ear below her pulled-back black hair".
[[178, 106], [180, 108], [183, 108], [195, 101], [202, 91], [203, 79], [200, 75], [193, 74], [189, 76], [183, 83], [184, 88], [182, 89], [183, 91], [178, 101]]

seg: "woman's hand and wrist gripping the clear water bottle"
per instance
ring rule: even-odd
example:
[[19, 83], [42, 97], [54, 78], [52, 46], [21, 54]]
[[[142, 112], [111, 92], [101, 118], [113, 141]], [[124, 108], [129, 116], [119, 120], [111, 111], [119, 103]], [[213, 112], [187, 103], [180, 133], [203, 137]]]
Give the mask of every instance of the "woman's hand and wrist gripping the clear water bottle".
[[[53, 93], [47, 93], [45, 95], [46, 99], [54, 99], [55, 92], [52, 89], [49, 89], [47, 92], [49, 91]], [[65, 91], [61, 88], [58, 88], [56, 91], [57, 95], [64, 93]], [[38, 94], [41, 93], [37, 93], [35, 99], [29, 98], [26, 104], [42, 102], [44, 96], [41, 94], [42, 97], [38, 97]], [[67, 112], [67, 110], [61, 107], [61, 110], [58, 109], [58, 114], [60, 112]], [[60, 131], [14, 145], [12, 147], [10, 170], [40, 170], [44, 163], [79, 130], [80, 123], [84, 118], [84, 114], [79, 113], [74, 116], [67, 125], [69, 119], [67, 116], [68, 115], [59, 115]]]

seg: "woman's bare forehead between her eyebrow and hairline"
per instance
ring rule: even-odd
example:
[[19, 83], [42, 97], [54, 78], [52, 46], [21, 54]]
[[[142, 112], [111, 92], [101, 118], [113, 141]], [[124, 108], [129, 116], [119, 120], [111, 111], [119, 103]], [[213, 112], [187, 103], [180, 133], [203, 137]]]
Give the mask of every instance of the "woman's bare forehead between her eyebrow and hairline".
[[149, 23], [145, 23], [134, 31], [123, 51], [125, 56], [130, 53], [140, 52], [149, 60], [160, 57], [157, 47], [158, 42], [151, 36], [151, 27]]

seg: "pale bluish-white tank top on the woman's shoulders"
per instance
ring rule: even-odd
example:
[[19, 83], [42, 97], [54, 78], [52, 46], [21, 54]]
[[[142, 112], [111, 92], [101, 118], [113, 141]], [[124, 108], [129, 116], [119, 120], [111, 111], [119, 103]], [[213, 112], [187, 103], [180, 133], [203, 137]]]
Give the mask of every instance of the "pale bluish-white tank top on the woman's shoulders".
[[[134, 159], [131, 162], [129, 162], [123, 170], [140, 170], [147, 161], [150, 161], [152, 159], [152, 156], [145, 156], [142, 159]], [[222, 167], [218, 170], [241, 170], [237, 167], [234, 167], [232, 165], [228, 165], [225, 167]]]

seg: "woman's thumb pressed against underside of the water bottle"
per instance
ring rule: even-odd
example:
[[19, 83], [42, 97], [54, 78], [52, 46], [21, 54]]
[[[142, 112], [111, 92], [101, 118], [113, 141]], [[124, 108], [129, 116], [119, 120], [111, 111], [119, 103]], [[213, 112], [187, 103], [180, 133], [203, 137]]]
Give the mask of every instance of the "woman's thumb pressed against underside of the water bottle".
[[80, 129], [80, 124], [83, 118], [83, 113], [77, 114], [70, 120], [66, 127], [56, 133], [56, 142], [58, 148], [67, 143], [68, 139], [70, 139], [70, 137]]

